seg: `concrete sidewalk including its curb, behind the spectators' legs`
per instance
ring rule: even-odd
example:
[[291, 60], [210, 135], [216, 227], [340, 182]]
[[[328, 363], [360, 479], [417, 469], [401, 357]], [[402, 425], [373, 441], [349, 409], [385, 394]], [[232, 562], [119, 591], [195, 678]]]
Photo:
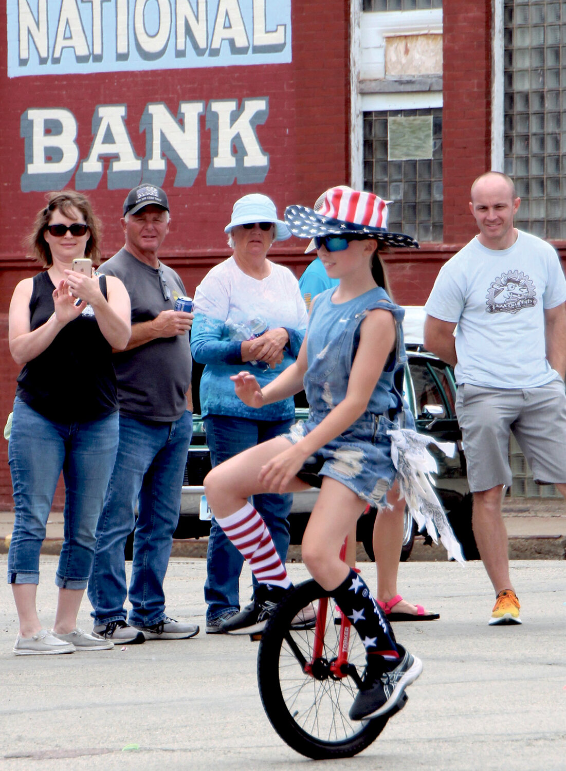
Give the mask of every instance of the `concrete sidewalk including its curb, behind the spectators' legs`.
[[[566, 559], [566, 509], [562, 500], [551, 498], [505, 498], [504, 520], [509, 534], [509, 556], [514, 560]], [[0, 512], [0, 554], [6, 553], [14, 523], [13, 512]], [[62, 512], [52, 512], [42, 554], [59, 554], [63, 533]], [[173, 557], [206, 557], [207, 538], [175, 540]], [[368, 559], [359, 545], [358, 560]], [[291, 546], [289, 560], [301, 560], [301, 547]], [[417, 536], [411, 561], [445, 561], [442, 546], [428, 546]]]

